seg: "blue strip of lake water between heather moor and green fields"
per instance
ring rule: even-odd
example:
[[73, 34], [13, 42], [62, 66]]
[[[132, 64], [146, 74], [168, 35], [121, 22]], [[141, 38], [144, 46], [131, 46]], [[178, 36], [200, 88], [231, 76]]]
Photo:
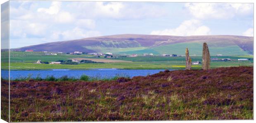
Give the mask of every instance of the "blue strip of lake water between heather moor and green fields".
[[[164, 70], [120, 70], [114, 68], [104, 68], [104, 69], [93, 69], [93, 70], [69, 70], [69, 69], [53, 69], [52, 71], [10, 71], [11, 80], [28, 77], [36, 78], [40, 76], [45, 78], [47, 76], [53, 75], [56, 78], [67, 75], [68, 77], [80, 78], [81, 75], [88, 75], [90, 77], [98, 78], [111, 78], [114, 76], [120, 77], [134, 77], [134, 76], [146, 76], [152, 75], [154, 73], [159, 73]], [[1, 76], [4, 79], [8, 78], [8, 71], [1, 71]]]

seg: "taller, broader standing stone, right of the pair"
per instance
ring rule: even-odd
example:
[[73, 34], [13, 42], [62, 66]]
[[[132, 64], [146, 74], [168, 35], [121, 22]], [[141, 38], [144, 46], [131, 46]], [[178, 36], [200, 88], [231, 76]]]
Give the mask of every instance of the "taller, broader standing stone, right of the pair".
[[202, 68], [204, 70], [210, 69], [210, 52], [207, 46], [207, 43], [204, 42], [203, 45], [203, 58], [202, 58]]

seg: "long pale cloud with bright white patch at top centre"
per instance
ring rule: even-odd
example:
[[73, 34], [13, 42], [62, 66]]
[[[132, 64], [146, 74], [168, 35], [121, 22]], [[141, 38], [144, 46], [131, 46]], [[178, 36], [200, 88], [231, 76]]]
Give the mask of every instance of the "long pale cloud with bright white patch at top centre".
[[[67, 6], [76, 8], [76, 14], [83, 18], [137, 19], [164, 16], [166, 11], [157, 5], [132, 2], [73, 2]], [[87, 8], [90, 11], [85, 11]]]

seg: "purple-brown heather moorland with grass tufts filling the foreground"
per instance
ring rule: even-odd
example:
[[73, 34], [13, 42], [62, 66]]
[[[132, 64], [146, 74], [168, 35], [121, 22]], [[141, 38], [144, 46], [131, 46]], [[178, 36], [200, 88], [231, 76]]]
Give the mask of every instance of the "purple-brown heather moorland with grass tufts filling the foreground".
[[253, 67], [246, 66], [10, 85], [11, 122], [253, 119]]

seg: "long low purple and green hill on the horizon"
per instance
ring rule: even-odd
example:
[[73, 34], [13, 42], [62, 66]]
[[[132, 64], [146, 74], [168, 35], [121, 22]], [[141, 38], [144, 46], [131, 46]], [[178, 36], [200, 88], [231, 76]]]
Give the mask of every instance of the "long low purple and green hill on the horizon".
[[201, 55], [202, 43], [207, 42], [211, 55], [249, 55], [253, 53], [253, 37], [213, 35], [213, 36], [160, 36], [142, 34], [119, 34], [99, 36], [71, 41], [58, 41], [15, 50], [48, 52], [112, 52], [117, 54], [154, 53], [185, 55], [188, 47], [190, 55]]

